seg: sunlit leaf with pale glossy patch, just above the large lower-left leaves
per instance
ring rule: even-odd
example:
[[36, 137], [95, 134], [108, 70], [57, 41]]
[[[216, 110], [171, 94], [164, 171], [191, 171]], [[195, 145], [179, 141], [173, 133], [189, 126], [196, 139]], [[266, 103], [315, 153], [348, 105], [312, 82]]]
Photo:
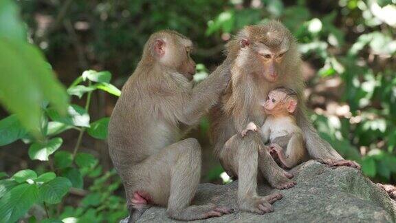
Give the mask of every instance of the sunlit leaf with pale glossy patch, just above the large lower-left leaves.
[[62, 145], [62, 138], [52, 138], [46, 143], [34, 142], [29, 147], [29, 157], [32, 160], [47, 161], [48, 156], [54, 153]]

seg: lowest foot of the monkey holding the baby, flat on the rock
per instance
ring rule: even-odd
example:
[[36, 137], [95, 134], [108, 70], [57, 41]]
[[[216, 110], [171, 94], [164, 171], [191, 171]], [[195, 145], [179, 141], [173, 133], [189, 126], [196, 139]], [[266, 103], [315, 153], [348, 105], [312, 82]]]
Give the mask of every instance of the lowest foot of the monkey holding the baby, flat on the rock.
[[254, 198], [245, 199], [239, 204], [239, 206], [243, 211], [249, 211], [253, 213], [258, 213], [259, 215], [263, 215], [265, 213], [273, 212], [274, 207], [272, 207], [271, 203], [281, 199], [282, 195], [280, 193], [268, 195], [265, 197], [255, 196]]

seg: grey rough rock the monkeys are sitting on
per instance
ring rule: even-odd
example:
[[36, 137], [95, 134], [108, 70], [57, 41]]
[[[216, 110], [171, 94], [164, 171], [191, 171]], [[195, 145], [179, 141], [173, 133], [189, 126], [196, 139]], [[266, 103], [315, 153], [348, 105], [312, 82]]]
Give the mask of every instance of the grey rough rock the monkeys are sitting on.
[[[259, 194], [281, 192], [275, 211], [256, 215], [236, 211], [230, 215], [196, 222], [396, 222], [396, 202], [357, 169], [331, 169], [313, 160], [291, 171], [296, 187], [279, 191], [261, 184]], [[226, 185], [200, 184], [194, 204], [230, 206], [237, 210], [237, 182]], [[164, 208], [152, 207], [138, 222], [176, 222]]]

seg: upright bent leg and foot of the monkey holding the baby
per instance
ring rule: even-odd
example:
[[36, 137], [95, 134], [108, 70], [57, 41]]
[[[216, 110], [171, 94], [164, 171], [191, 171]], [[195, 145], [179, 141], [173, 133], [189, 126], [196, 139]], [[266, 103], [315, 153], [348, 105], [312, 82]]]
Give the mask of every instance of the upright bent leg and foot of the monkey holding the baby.
[[257, 173], [259, 145], [256, 133], [248, 131], [232, 136], [219, 154], [221, 164], [232, 176], [238, 176], [238, 204], [243, 211], [264, 214], [274, 211], [272, 203], [280, 200], [282, 195], [274, 193], [261, 197], [257, 194]]

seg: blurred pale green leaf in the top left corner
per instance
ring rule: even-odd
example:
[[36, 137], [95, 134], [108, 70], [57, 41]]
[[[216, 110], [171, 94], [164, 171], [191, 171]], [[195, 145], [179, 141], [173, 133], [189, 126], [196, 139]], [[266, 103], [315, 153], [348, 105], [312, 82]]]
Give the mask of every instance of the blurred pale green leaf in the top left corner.
[[0, 1], [0, 37], [26, 41], [25, 25], [19, 19], [19, 10], [14, 1]]

